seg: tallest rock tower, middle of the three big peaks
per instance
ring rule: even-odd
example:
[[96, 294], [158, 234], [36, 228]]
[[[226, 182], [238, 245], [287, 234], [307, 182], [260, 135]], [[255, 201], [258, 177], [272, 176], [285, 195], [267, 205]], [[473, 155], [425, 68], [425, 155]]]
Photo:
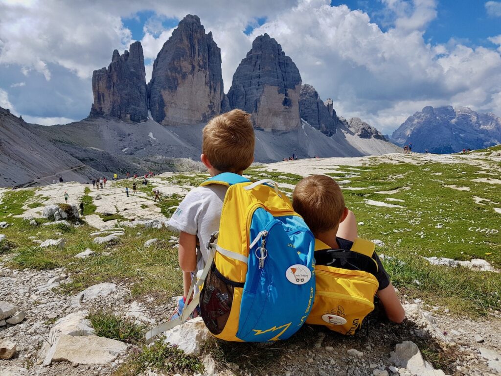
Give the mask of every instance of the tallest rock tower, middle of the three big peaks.
[[221, 50], [197, 16], [187, 15], [163, 45], [148, 84], [153, 119], [196, 124], [221, 112]]

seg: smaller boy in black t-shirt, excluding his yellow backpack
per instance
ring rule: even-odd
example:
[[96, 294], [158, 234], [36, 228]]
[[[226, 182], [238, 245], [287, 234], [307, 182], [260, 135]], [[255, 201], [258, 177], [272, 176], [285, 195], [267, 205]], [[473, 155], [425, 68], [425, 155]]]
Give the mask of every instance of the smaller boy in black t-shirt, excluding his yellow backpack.
[[[357, 238], [355, 215], [345, 207], [339, 185], [329, 176], [311, 175], [302, 179], [293, 193], [294, 210], [305, 220], [315, 238], [332, 249], [350, 250]], [[388, 318], [401, 323], [405, 312], [379, 257], [376, 296]]]

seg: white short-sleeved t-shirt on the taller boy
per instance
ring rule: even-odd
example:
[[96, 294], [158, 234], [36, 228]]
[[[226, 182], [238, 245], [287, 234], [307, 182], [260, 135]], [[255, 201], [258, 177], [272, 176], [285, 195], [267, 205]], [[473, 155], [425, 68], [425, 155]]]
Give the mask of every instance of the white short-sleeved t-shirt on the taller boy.
[[219, 231], [222, 203], [228, 187], [220, 184], [199, 186], [191, 190], [179, 204], [168, 224], [179, 231], [196, 235], [201, 257], [197, 269], [202, 270], [209, 253], [205, 248], [213, 232]]

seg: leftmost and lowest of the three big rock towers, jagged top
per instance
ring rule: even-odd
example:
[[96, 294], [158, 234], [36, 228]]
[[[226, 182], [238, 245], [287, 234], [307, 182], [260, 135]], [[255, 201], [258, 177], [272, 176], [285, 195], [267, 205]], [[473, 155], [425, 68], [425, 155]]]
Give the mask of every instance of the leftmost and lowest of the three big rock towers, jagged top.
[[108, 69], [92, 74], [94, 103], [90, 117], [111, 116], [135, 122], [148, 118], [148, 89], [141, 42], [120, 55], [113, 51]]

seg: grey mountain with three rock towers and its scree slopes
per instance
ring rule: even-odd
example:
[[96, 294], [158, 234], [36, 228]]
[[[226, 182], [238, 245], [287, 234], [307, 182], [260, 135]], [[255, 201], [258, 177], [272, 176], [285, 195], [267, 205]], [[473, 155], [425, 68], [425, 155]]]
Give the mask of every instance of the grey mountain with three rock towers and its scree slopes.
[[[0, 174], [0, 186], [59, 173], [87, 181], [96, 173], [171, 170], [169, 158], [198, 159], [204, 124], [234, 108], [252, 114], [256, 161], [282, 160], [293, 153], [308, 158], [401, 150], [361, 119], [338, 116], [332, 100], [324, 102], [315, 88], [302, 83], [292, 59], [267, 34], [254, 40], [225, 95], [220, 49], [192, 15], [181, 20], [163, 45], [148, 84], [143, 49], [135, 42], [122, 55], [113, 51], [108, 68], [94, 71], [92, 89], [89, 117], [75, 123], [27, 124], [4, 110], [0, 167], [7, 173]], [[13, 128], [19, 136], [10, 138], [9, 150], [19, 142], [19, 150], [26, 152], [6, 155], [1, 139]], [[42, 150], [30, 152], [26, 142], [41, 145], [54, 163], [39, 169], [49, 157]]]

